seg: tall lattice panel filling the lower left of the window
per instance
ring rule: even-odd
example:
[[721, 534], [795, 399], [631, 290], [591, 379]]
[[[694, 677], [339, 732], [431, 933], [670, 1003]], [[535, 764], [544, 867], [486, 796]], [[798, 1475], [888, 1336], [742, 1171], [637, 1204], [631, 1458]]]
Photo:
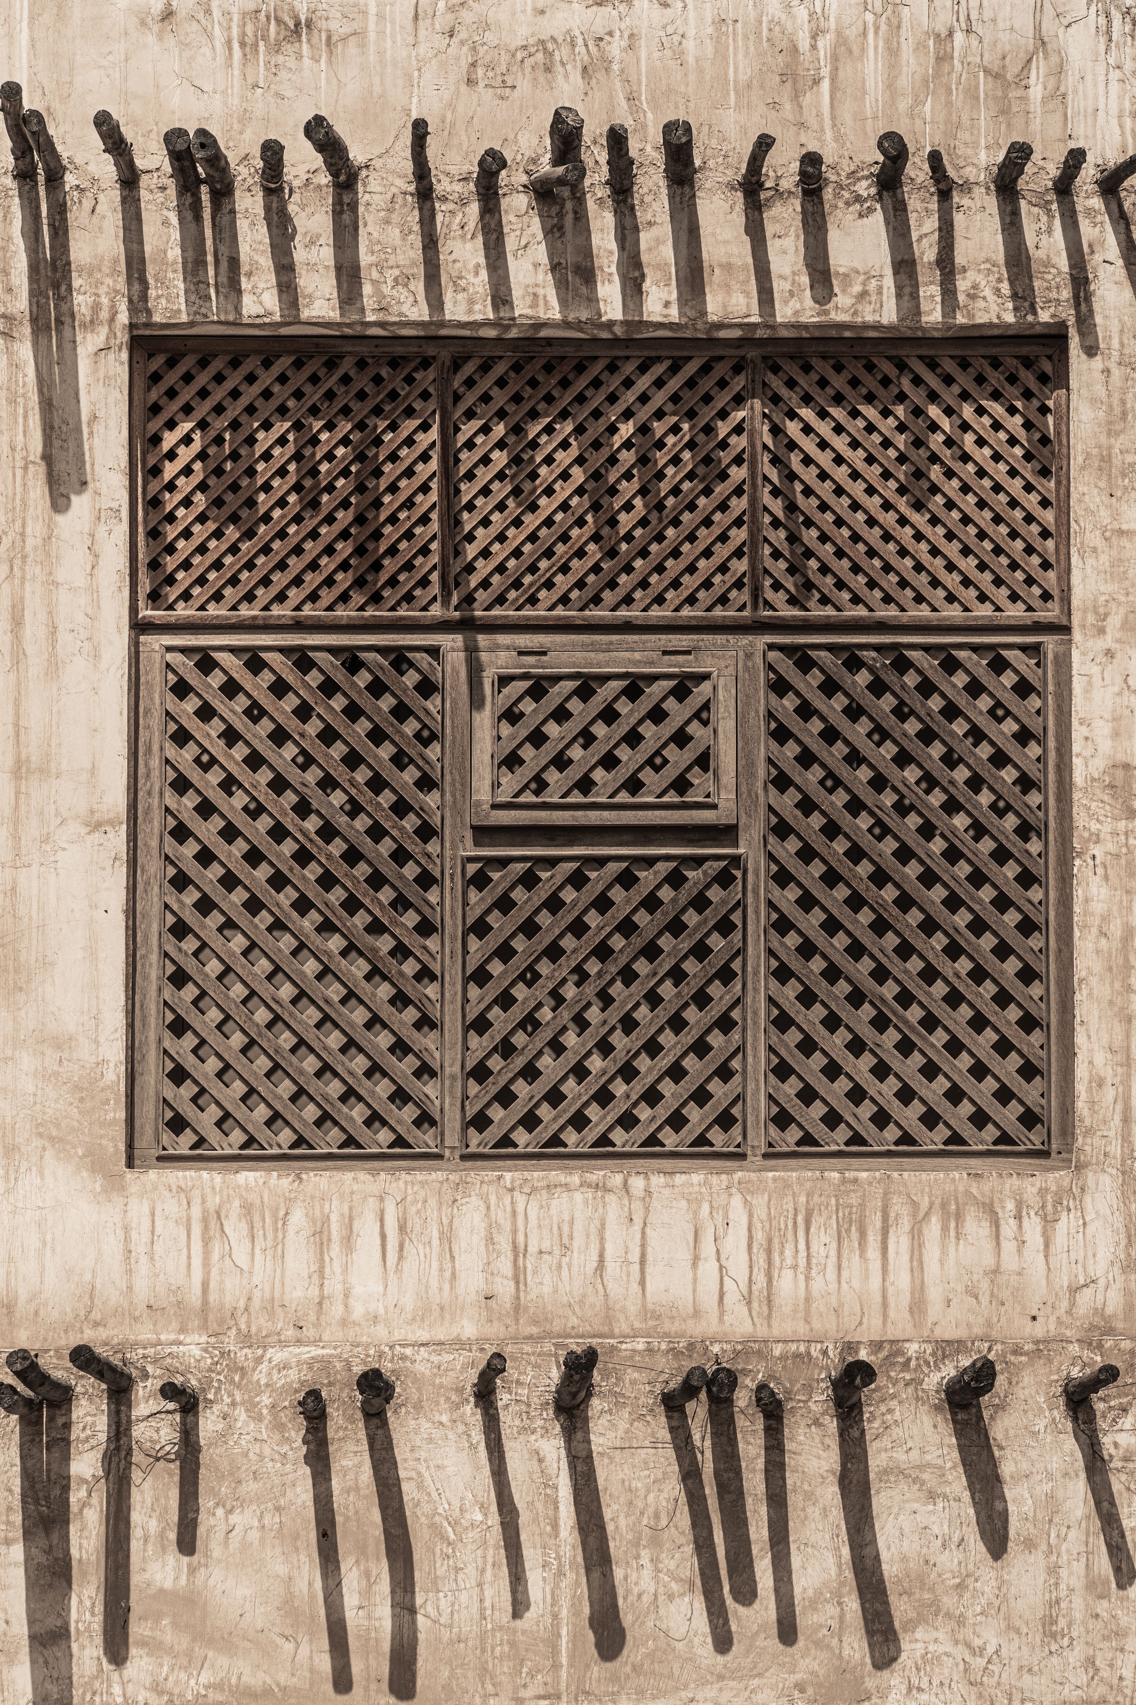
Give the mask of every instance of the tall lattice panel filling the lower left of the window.
[[438, 1147], [436, 651], [167, 653], [160, 1153]]

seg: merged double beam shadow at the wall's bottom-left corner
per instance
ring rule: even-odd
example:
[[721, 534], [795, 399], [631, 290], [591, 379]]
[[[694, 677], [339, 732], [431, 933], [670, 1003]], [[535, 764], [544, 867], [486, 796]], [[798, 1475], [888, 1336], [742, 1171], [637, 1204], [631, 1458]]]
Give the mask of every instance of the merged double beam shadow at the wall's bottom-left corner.
[[72, 1705], [72, 1405], [19, 1417], [31, 1705]]

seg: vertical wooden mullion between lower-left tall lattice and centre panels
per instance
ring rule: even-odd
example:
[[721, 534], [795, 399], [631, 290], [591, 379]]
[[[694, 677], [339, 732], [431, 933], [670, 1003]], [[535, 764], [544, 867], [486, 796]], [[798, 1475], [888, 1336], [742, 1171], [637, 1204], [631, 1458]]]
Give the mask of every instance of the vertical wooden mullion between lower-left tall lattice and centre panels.
[[465, 854], [470, 851], [470, 658], [462, 641], [443, 650], [441, 1033], [438, 1096], [441, 1147], [456, 1161], [465, 1134]]

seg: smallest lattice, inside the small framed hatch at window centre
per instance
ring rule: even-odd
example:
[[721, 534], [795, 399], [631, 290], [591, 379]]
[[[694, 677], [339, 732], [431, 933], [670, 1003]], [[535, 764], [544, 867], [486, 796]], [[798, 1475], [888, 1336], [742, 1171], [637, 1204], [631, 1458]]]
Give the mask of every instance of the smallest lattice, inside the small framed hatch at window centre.
[[496, 796], [714, 796], [714, 675], [497, 677]]

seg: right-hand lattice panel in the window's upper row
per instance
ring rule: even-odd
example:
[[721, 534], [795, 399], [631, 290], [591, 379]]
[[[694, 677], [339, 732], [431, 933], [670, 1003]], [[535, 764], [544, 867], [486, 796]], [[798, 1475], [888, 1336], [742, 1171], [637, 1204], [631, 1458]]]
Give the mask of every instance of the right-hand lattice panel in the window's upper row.
[[766, 610], [1053, 610], [1053, 356], [761, 363]]

